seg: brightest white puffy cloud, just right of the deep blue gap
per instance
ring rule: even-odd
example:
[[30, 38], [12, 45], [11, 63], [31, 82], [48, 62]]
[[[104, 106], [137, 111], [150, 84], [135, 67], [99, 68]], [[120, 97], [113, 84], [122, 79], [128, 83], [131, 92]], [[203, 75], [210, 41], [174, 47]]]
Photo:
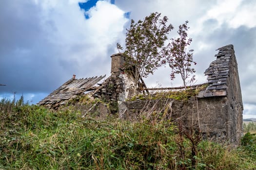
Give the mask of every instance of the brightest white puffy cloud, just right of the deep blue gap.
[[98, 1], [96, 6], [88, 11], [91, 17], [85, 24], [86, 31], [90, 33], [87, 33], [88, 39], [95, 46], [91, 49], [93, 55], [95, 52], [104, 55], [108, 46], [115, 46], [114, 43], [119, 37], [123, 37], [123, 26], [128, 21], [124, 13], [116, 5], [107, 1]]

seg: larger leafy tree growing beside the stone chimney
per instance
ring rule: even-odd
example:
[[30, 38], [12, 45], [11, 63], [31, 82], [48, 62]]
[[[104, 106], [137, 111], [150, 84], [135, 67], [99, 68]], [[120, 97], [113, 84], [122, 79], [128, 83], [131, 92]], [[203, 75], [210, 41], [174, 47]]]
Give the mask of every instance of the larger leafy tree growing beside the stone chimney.
[[[136, 85], [141, 77], [154, 73], [168, 52], [165, 41], [174, 27], [172, 24], [167, 25], [166, 16], [160, 18], [160, 15], [157, 12], [151, 13], [138, 22], [132, 19], [130, 28], [126, 29], [124, 68], [132, 69]], [[117, 48], [122, 49], [119, 44]]]

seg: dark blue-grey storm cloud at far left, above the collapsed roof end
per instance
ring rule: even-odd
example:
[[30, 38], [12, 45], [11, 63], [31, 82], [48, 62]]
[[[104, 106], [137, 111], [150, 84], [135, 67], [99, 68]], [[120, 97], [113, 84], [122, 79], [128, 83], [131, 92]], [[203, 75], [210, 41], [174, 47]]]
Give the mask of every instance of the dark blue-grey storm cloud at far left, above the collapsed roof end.
[[57, 86], [61, 81], [57, 75], [63, 71], [62, 63], [55, 59], [57, 51], [44, 30], [53, 27], [50, 22], [43, 26], [40, 12], [27, 1], [1, 2], [0, 81], [7, 86], [0, 92], [44, 92], [51, 90], [47, 84]]

